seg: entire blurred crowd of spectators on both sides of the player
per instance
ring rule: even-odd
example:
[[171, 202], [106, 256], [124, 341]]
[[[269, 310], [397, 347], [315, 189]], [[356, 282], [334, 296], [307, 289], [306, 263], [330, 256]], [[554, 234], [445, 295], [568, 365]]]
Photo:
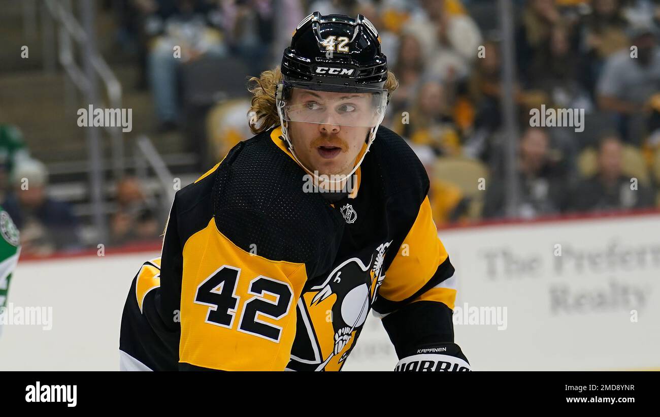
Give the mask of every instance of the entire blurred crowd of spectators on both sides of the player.
[[[426, 166], [438, 226], [660, 207], [660, 0], [513, 0], [513, 211], [498, 1], [109, 2], [117, 44], [135, 57], [158, 131], [180, 131], [199, 154], [200, 171], [251, 137], [246, 77], [279, 65], [304, 16], [360, 13], [378, 28], [400, 82], [383, 125]], [[530, 111], [542, 106], [576, 110], [581, 127], [532, 125]], [[46, 193], [44, 164], [20, 148], [13, 129], [0, 129], [2, 206], [24, 247], [80, 247], [71, 207]], [[28, 177], [30, 191], [18, 192]], [[158, 236], [162, 210], [139, 181], [127, 177], [115, 189], [112, 242]]]

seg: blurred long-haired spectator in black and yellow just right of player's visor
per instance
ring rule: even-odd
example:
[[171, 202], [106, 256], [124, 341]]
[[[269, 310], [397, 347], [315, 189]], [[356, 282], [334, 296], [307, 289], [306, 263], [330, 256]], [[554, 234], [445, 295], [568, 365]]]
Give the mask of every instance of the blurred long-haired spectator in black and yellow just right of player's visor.
[[439, 80], [422, 82], [409, 114], [395, 117], [394, 130], [414, 144], [430, 146], [438, 155], [461, 153], [461, 138]]

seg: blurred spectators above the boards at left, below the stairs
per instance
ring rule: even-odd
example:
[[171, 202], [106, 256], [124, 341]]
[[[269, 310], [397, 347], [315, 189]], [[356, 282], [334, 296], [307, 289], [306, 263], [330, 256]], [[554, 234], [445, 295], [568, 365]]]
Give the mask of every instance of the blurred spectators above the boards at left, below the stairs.
[[[20, 130], [0, 123], [0, 207], [20, 231], [23, 255], [42, 257], [90, 246], [75, 208], [49, 192], [48, 177], [46, 165], [30, 156]], [[104, 245], [158, 239], [164, 218], [139, 180], [127, 176], [114, 188], [110, 236]]]

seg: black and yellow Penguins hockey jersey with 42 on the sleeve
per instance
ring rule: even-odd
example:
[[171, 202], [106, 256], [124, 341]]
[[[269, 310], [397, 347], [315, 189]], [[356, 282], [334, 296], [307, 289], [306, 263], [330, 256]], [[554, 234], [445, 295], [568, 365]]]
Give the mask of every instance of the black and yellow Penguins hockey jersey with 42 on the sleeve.
[[280, 135], [176, 193], [162, 255], [133, 279], [122, 354], [154, 370], [339, 370], [370, 309], [400, 358], [453, 342], [454, 270], [411, 148], [380, 127], [356, 189], [329, 199], [304, 191]]

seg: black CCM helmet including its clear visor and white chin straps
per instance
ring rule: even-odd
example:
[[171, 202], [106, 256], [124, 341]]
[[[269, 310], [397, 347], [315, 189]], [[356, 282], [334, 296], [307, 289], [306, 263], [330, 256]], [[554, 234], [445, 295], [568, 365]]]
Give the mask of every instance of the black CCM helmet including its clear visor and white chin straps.
[[[282, 139], [301, 166], [288, 135], [288, 123], [369, 128], [364, 152], [352, 175], [374, 142], [389, 102], [389, 92], [384, 88], [387, 58], [381, 53], [374, 25], [362, 15], [351, 18], [314, 12], [298, 24], [291, 45], [284, 49], [280, 69], [282, 81], [275, 98]], [[299, 97], [313, 98], [295, 100], [296, 90]]]

